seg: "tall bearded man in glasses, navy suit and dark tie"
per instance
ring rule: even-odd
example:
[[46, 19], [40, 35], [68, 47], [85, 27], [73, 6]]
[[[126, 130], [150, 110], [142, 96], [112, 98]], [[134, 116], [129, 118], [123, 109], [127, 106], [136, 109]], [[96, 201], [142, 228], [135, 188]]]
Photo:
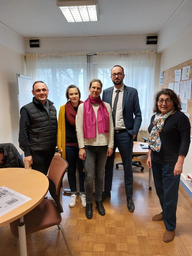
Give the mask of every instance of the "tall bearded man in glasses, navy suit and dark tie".
[[[118, 148], [124, 168], [125, 191], [127, 196], [127, 208], [134, 212], [135, 205], [133, 195], [133, 170], [132, 152], [133, 139], [138, 134], [142, 117], [139, 106], [138, 92], [132, 87], [125, 86], [123, 79], [124, 69], [115, 65], [111, 70], [111, 80], [113, 87], [103, 91], [102, 100], [108, 102], [112, 108], [114, 123], [114, 148], [113, 154], [108, 157], [105, 165], [105, 185], [102, 201], [111, 196], [113, 179], [113, 165], [115, 150]], [[134, 114], [134, 116], [133, 116]]]

